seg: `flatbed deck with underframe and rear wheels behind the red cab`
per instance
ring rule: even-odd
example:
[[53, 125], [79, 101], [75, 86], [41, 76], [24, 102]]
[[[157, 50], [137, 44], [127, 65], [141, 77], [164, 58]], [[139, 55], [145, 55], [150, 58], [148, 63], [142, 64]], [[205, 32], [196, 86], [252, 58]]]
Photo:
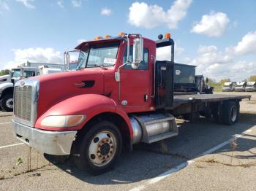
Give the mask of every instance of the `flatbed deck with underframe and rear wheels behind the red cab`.
[[194, 94], [173, 95], [170, 113], [183, 116], [185, 120], [196, 120], [200, 115], [214, 117], [217, 123], [232, 125], [238, 120], [239, 102], [251, 95]]

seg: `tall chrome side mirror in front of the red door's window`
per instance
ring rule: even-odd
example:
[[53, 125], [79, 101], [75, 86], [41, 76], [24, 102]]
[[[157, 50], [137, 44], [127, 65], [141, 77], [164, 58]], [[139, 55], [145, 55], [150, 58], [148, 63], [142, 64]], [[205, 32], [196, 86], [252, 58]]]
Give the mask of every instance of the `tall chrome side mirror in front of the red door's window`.
[[143, 61], [143, 39], [133, 39], [132, 69], [138, 69]]

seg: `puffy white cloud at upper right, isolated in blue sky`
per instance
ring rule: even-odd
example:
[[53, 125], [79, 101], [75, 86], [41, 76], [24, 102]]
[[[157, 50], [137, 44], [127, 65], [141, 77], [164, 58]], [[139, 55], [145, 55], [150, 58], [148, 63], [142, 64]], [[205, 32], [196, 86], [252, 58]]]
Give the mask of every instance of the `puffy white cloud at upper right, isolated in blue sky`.
[[221, 36], [230, 19], [223, 12], [211, 12], [209, 15], [203, 15], [200, 22], [197, 22], [191, 32], [196, 34], [204, 34], [207, 36]]

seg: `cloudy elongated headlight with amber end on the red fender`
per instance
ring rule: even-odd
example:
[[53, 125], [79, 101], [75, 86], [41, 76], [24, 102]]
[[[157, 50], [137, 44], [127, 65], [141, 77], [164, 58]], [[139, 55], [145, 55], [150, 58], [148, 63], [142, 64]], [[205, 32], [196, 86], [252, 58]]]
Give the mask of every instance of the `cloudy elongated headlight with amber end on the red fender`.
[[83, 114], [79, 115], [52, 115], [45, 117], [41, 125], [47, 127], [66, 128], [80, 125], [86, 116]]

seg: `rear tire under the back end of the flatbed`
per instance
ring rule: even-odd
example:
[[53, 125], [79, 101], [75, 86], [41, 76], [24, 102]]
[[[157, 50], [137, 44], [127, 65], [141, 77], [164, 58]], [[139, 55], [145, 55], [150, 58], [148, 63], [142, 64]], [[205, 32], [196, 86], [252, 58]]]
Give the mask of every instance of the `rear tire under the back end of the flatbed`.
[[239, 106], [236, 101], [225, 101], [222, 105], [222, 123], [233, 125], [238, 121]]

